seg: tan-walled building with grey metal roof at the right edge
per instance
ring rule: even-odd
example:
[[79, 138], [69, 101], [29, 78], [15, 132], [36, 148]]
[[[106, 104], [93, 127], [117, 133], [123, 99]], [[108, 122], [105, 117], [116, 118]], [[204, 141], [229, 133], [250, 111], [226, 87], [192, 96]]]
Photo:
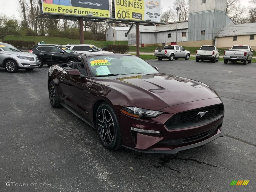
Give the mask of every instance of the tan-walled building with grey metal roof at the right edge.
[[249, 45], [256, 49], [256, 23], [222, 27], [216, 35], [217, 47], [232, 47], [233, 45]]

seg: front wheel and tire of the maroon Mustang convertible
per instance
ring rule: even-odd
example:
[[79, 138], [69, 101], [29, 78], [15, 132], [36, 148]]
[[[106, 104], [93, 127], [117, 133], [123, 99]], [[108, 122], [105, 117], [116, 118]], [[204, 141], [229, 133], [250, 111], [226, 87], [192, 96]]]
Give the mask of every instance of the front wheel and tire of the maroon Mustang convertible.
[[110, 151], [121, 148], [121, 132], [114, 110], [102, 103], [96, 113], [95, 121], [100, 142]]

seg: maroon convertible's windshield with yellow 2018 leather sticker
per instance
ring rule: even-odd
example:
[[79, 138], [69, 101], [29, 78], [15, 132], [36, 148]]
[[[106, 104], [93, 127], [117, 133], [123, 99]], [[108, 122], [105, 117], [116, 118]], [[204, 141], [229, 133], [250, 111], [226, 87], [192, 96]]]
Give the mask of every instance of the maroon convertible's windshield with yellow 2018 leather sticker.
[[86, 58], [92, 77], [138, 73], [158, 73], [143, 59], [129, 55], [90, 56]]

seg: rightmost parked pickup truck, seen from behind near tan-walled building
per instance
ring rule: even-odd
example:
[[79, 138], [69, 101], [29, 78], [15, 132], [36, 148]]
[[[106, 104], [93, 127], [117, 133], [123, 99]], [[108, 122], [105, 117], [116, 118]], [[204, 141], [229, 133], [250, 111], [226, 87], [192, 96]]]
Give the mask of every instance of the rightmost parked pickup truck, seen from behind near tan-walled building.
[[252, 52], [251, 47], [248, 45], [234, 45], [231, 49], [225, 50], [223, 53], [224, 63], [227, 64], [228, 61], [237, 62], [241, 61], [244, 65], [252, 62]]

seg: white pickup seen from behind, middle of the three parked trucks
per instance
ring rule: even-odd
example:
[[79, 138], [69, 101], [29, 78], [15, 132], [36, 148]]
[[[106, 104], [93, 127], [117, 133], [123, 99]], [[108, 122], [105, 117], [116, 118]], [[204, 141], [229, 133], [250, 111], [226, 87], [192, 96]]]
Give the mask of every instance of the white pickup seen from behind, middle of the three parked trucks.
[[203, 45], [199, 50], [196, 50], [196, 62], [199, 60], [211, 60], [213, 63], [219, 61], [220, 52], [213, 45]]

